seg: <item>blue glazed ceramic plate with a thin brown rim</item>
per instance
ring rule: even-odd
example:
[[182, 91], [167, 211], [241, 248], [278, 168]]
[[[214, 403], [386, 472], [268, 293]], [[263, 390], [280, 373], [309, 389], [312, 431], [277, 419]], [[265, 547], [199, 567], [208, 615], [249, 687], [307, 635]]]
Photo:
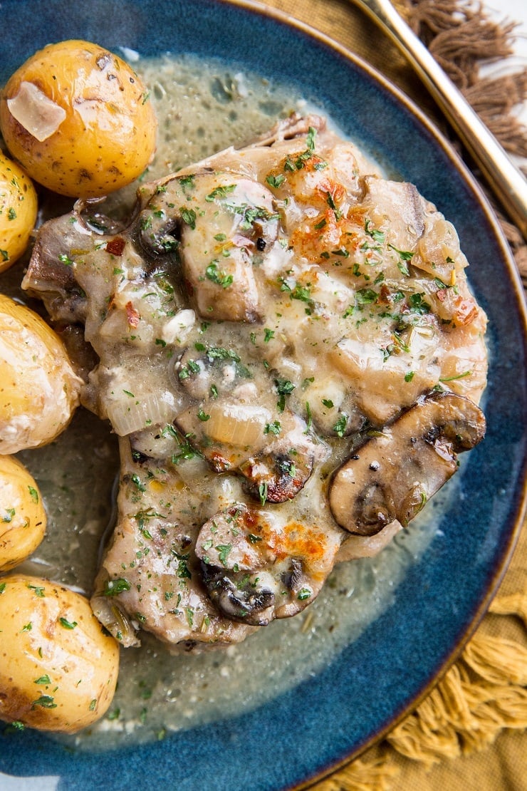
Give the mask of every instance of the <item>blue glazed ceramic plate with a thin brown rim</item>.
[[488, 433], [465, 466], [465, 497], [439, 517], [446, 539], [433, 539], [409, 568], [393, 605], [316, 678], [251, 713], [100, 755], [66, 750], [37, 732], [0, 744], [2, 789], [257, 791], [308, 782], [379, 738], [426, 694], [471, 634], [510, 557], [524, 496], [527, 414], [525, 313], [510, 253], [471, 177], [408, 100], [337, 45], [261, 6], [3, 0], [2, 18], [9, 35], [0, 82], [36, 49], [69, 38], [142, 55], [215, 55], [280, 78], [435, 202], [454, 221], [472, 264], [472, 287], [490, 320]]

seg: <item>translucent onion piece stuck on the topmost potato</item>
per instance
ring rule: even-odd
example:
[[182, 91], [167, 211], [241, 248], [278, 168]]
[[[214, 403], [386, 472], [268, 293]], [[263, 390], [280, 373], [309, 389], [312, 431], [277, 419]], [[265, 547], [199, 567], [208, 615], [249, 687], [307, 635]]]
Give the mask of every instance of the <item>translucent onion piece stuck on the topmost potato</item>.
[[39, 142], [51, 138], [66, 119], [66, 110], [32, 82], [21, 82], [16, 97], [7, 100], [9, 112]]

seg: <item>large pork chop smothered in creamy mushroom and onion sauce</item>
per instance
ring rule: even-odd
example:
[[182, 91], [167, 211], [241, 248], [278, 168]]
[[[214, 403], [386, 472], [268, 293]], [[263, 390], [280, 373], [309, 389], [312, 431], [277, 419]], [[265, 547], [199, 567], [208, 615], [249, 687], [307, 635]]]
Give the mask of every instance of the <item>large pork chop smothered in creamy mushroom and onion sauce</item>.
[[384, 433], [405, 464], [416, 410], [423, 497], [480, 441], [486, 318], [450, 222], [316, 115], [141, 185], [124, 224], [98, 209], [43, 225], [23, 283], [83, 328], [83, 403], [119, 435], [92, 607], [123, 645], [238, 642], [424, 505], [412, 479], [381, 508], [378, 467], [354, 490], [360, 448]]

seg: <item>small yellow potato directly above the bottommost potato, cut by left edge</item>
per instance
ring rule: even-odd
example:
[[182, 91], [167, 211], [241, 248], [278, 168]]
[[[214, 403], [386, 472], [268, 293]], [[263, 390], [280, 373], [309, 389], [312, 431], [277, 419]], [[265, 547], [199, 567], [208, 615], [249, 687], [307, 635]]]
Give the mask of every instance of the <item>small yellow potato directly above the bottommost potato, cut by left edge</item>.
[[0, 571], [32, 554], [45, 532], [46, 512], [36, 481], [13, 456], [0, 456]]

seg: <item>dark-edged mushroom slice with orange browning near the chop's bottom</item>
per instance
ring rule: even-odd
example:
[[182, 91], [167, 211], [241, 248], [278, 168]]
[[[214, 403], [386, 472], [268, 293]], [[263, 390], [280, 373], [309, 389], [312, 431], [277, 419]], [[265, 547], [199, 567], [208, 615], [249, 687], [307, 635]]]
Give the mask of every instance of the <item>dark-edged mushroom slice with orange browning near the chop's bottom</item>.
[[265, 626], [303, 610], [322, 588], [341, 543], [337, 532], [285, 522], [233, 503], [196, 542], [210, 599], [234, 621]]

